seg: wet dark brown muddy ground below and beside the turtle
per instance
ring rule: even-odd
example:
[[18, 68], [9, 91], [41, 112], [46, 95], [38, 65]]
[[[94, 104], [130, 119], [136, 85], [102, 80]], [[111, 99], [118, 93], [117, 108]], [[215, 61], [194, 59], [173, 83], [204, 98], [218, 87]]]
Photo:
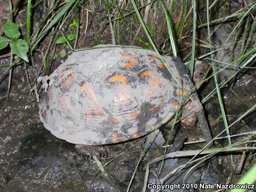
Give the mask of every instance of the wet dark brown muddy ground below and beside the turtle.
[[[22, 75], [22, 68], [17, 68]], [[253, 72], [253, 71], [252, 71]], [[239, 75], [237, 82], [231, 89], [223, 91], [229, 123], [245, 113], [256, 102], [255, 75], [247, 72]], [[18, 85], [14, 85], [10, 99], [5, 106], [6, 91], [1, 91], [0, 108], [0, 187], [3, 191], [125, 191], [132, 177], [136, 163], [142, 152], [141, 145], [132, 142], [107, 146], [109, 157], [120, 154], [109, 163], [105, 170], [110, 180], [102, 178], [98, 166], [93, 159], [78, 154], [74, 145], [57, 139], [40, 124], [38, 117], [38, 105], [28, 99], [29, 90], [26, 80], [21, 79]], [[202, 94], [214, 87], [212, 82], [203, 87]], [[248, 94], [250, 93], [250, 94]], [[234, 99], [235, 98], [235, 99]], [[217, 98], [213, 98], [205, 106], [208, 122], [211, 126], [213, 136], [224, 128]], [[25, 126], [25, 124], [27, 126]], [[244, 124], [245, 123], [245, 124]], [[244, 119], [244, 122], [235, 124], [230, 129], [232, 135], [242, 132], [255, 131], [255, 114], [252, 113]], [[163, 133], [164, 134], [164, 133]], [[201, 130], [179, 129], [178, 136], [186, 135], [188, 140], [203, 139]], [[241, 138], [232, 139], [233, 142]], [[131, 148], [135, 145], [135, 147]], [[223, 147], [226, 141], [218, 141], [216, 147]], [[200, 145], [185, 145], [182, 150], [192, 150]], [[156, 158], [162, 154], [162, 150], [155, 147], [147, 152], [146, 158], [140, 165], [138, 173], [133, 181], [131, 191], [141, 190], [144, 180], [144, 166], [149, 159]], [[203, 167], [195, 169], [187, 177], [186, 182], [216, 183], [225, 182], [230, 174], [230, 156], [219, 155], [216, 157], [218, 164], [205, 163]], [[178, 165], [182, 165], [189, 158], [168, 159], [162, 172], [162, 177]], [[234, 166], [237, 168], [241, 155], [234, 155]], [[108, 160], [102, 160], [104, 165]], [[236, 182], [255, 163], [255, 158], [245, 162], [241, 174], [234, 174], [233, 182]], [[158, 167], [158, 166], [157, 166]], [[157, 169], [157, 168], [151, 168]], [[152, 174], [154, 175], [154, 171]], [[99, 174], [97, 174], [99, 173]], [[184, 177], [184, 173], [183, 177]], [[149, 182], [157, 183], [155, 177], [151, 176]], [[183, 177], [168, 182], [182, 183]]]

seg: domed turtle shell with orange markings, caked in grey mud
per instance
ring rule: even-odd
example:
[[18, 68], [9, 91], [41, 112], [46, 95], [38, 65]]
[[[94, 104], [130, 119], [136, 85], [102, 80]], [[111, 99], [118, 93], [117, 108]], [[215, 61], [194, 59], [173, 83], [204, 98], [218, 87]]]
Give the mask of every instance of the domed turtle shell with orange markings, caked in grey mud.
[[[178, 79], [173, 58], [163, 58]], [[139, 48], [74, 52], [43, 86], [48, 89], [41, 94], [39, 115], [45, 128], [74, 144], [146, 135], [166, 124], [184, 101], [177, 104], [182, 90], [156, 53]]]

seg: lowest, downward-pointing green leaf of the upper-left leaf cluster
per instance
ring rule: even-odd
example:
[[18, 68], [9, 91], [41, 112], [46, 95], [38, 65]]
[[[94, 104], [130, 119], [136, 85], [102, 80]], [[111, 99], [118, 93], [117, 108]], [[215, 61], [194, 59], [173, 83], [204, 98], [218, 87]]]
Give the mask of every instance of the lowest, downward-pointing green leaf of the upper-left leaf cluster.
[[26, 53], [28, 52], [28, 45], [23, 39], [12, 39], [10, 42], [10, 47], [17, 56], [29, 62]]

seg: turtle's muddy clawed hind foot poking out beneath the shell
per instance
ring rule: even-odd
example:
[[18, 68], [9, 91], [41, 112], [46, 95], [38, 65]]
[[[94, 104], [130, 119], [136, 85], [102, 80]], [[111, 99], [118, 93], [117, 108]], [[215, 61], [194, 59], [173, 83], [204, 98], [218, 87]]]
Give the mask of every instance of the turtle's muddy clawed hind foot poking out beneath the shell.
[[96, 156], [99, 160], [108, 157], [106, 149], [102, 146], [90, 146], [90, 145], [75, 145], [75, 149], [79, 154], [89, 156]]

